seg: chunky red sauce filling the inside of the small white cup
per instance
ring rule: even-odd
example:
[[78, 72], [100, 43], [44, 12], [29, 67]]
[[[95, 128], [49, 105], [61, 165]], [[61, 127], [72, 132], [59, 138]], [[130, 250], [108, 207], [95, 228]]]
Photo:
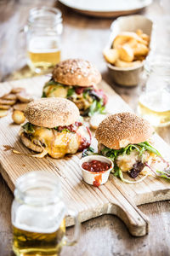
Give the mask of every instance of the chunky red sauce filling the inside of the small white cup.
[[105, 172], [109, 170], [111, 165], [99, 160], [92, 160], [90, 162], [84, 162], [82, 168], [88, 172]]

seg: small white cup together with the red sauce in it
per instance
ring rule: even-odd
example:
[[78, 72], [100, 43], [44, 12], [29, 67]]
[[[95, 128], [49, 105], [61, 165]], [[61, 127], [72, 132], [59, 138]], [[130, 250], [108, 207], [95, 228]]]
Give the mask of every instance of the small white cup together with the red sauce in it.
[[80, 160], [80, 167], [84, 181], [99, 187], [108, 180], [113, 162], [102, 155], [89, 155]]

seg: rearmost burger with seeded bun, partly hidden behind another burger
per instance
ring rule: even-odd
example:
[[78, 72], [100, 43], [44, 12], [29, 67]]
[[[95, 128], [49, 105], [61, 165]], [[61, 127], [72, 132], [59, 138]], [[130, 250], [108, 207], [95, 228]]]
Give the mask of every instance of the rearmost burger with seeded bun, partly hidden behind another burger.
[[60, 61], [54, 67], [52, 79], [44, 85], [42, 97], [67, 98], [77, 105], [82, 116], [104, 113], [107, 97], [96, 88], [100, 80], [99, 71], [88, 61]]

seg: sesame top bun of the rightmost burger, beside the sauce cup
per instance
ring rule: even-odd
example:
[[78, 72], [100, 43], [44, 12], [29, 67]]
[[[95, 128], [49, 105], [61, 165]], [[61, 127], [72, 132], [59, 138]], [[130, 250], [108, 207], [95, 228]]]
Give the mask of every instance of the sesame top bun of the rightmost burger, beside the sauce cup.
[[116, 113], [99, 124], [95, 137], [107, 148], [120, 149], [128, 144], [144, 143], [153, 131], [149, 122], [134, 113]]

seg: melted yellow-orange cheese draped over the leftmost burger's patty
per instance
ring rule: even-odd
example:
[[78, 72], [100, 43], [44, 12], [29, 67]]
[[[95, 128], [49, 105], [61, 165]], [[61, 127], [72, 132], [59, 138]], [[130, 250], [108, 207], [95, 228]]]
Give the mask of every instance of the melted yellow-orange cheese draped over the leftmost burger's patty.
[[31, 143], [42, 142], [45, 149], [53, 158], [62, 158], [65, 154], [75, 154], [81, 143], [81, 138], [89, 135], [84, 126], [80, 126], [77, 133], [68, 131], [55, 131], [43, 127], [34, 127], [35, 132], [31, 135]]

